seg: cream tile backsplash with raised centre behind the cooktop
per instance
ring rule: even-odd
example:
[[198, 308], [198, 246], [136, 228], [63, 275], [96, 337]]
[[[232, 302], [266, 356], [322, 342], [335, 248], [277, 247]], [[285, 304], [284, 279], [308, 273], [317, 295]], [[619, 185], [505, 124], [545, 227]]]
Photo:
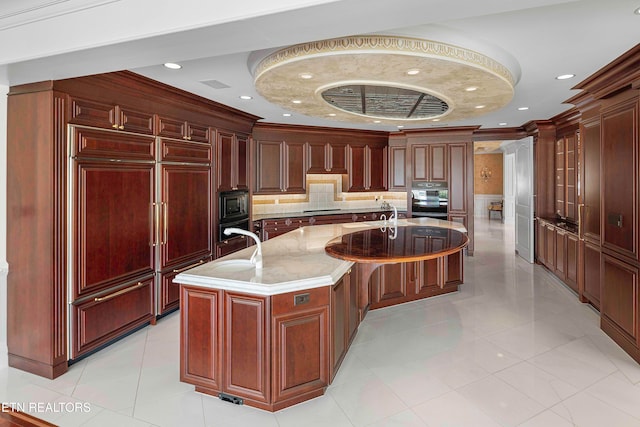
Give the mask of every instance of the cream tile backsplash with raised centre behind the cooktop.
[[342, 175], [308, 174], [306, 194], [254, 195], [253, 214], [294, 213], [321, 209], [368, 209], [386, 201], [400, 210], [407, 209], [405, 192], [381, 191], [343, 193]]

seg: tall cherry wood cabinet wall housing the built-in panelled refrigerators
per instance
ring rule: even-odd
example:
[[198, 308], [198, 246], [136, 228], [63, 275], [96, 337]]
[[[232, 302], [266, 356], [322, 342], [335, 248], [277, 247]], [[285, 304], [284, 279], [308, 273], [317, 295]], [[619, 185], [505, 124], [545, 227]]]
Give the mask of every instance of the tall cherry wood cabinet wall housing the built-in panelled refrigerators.
[[255, 120], [130, 72], [11, 88], [10, 366], [57, 377], [178, 306], [212, 257], [216, 136]]

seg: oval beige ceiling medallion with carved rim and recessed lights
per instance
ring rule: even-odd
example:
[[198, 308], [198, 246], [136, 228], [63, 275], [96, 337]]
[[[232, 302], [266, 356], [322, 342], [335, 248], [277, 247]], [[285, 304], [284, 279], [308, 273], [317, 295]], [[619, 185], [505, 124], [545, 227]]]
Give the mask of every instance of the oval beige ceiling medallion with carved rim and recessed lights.
[[481, 53], [386, 35], [321, 40], [278, 50], [258, 63], [254, 80], [264, 98], [288, 110], [389, 125], [478, 117], [508, 104], [515, 84], [507, 67]]

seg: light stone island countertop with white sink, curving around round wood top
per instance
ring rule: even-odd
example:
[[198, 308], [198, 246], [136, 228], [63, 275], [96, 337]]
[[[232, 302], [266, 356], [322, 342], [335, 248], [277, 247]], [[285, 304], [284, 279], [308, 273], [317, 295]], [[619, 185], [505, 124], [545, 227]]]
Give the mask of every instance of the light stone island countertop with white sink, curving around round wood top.
[[[389, 224], [387, 222], [387, 227]], [[343, 234], [382, 225], [382, 221], [366, 221], [302, 227], [262, 242], [261, 270], [237, 262], [251, 257], [256, 248], [253, 245], [180, 273], [174, 282], [255, 295], [277, 295], [331, 286], [354, 263], [327, 255], [324, 250], [327, 242]], [[406, 225], [451, 228], [463, 233], [467, 231], [460, 223], [433, 218], [398, 220], [398, 227]]]

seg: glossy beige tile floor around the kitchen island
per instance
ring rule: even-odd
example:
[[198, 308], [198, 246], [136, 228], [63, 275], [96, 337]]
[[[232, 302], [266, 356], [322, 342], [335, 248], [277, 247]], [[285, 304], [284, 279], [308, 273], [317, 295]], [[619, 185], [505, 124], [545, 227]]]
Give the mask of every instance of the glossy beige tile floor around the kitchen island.
[[34, 415], [60, 426], [640, 426], [640, 365], [512, 227], [475, 224], [460, 292], [370, 312], [323, 397], [269, 413], [194, 392], [173, 314], [53, 381], [0, 368], [0, 401], [57, 403]]

